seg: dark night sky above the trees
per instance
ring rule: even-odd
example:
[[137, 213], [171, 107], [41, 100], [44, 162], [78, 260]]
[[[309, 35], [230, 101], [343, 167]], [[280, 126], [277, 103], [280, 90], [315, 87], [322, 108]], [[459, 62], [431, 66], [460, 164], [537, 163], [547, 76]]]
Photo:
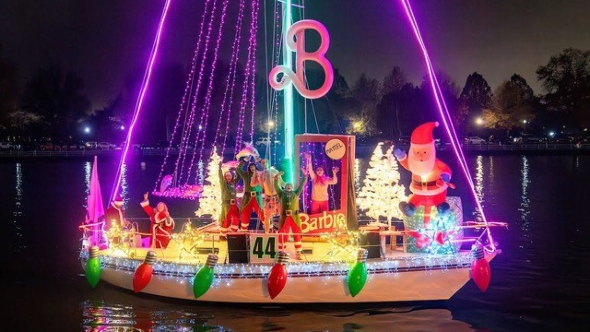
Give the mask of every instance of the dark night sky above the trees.
[[[156, 66], [188, 65], [201, 2], [172, 1]], [[266, 2], [271, 11], [272, 1]], [[122, 89], [130, 73], [145, 67], [163, 3], [2, 0], [4, 57], [17, 65], [22, 80], [52, 63], [76, 71], [86, 82], [93, 108], [101, 108]], [[237, 4], [230, 0], [230, 21], [235, 20]], [[382, 79], [395, 65], [412, 82], [422, 82], [422, 59], [398, 1], [306, 0], [305, 4], [306, 18], [328, 28], [332, 45], [327, 57], [349, 84], [363, 72]], [[492, 89], [519, 73], [541, 93], [537, 66], [564, 48], [590, 48], [588, 0], [415, 0], [412, 6], [434, 66], [461, 87], [473, 71], [483, 74]], [[263, 45], [258, 50], [259, 62], [264, 63]]]

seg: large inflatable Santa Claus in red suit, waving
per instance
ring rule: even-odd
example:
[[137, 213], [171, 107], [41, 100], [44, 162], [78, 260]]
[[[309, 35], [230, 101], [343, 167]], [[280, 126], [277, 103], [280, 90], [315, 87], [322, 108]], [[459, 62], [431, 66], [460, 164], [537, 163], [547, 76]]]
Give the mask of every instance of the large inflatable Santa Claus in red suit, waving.
[[408, 202], [399, 203], [399, 209], [408, 216], [414, 215], [418, 206], [436, 206], [439, 214], [446, 214], [450, 208], [447, 199], [448, 181], [451, 169], [436, 157], [432, 129], [438, 122], [427, 122], [412, 132], [409, 155], [400, 149], [394, 151], [395, 158], [402, 167], [412, 172], [412, 192]]

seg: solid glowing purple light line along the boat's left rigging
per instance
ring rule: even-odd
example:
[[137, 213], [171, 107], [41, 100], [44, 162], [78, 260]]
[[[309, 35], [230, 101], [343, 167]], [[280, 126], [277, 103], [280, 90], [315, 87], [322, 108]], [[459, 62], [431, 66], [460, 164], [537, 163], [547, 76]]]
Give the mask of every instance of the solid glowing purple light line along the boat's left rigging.
[[148, 61], [148, 67], [146, 68], [146, 72], [143, 76], [142, 87], [140, 89], [139, 98], [137, 98], [137, 102], [135, 104], [135, 110], [133, 112], [133, 118], [131, 121], [131, 125], [129, 126], [129, 132], [127, 132], [127, 139], [125, 141], [125, 146], [123, 148], [123, 154], [121, 156], [121, 160], [119, 162], [119, 167], [117, 168], [115, 182], [113, 184], [113, 190], [111, 192], [111, 200], [117, 196], [117, 192], [119, 191], [119, 186], [121, 184], [122, 178], [122, 170], [123, 165], [125, 164], [125, 160], [127, 158], [127, 154], [129, 153], [129, 144], [131, 142], [131, 138], [133, 135], [133, 129], [135, 128], [135, 123], [137, 122], [137, 118], [139, 118], [139, 113], [141, 112], [142, 105], [143, 105], [143, 98], [145, 97], [146, 91], [148, 90], [149, 80], [152, 77], [152, 68], [153, 64], [156, 61], [156, 56], [158, 56], [158, 47], [160, 45], [160, 37], [162, 37], [162, 31], [164, 28], [164, 23], [166, 22], [166, 17], [168, 16], [168, 8], [170, 7], [171, 0], [166, 0], [164, 4], [164, 9], [162, 11], [162, 16], [160, 17], [160, 23], [158, 24], [158, 30], [156, 31], [156, 37], [154, 43], [152, 45], [152, 50], [150, 52], [150, 57]]

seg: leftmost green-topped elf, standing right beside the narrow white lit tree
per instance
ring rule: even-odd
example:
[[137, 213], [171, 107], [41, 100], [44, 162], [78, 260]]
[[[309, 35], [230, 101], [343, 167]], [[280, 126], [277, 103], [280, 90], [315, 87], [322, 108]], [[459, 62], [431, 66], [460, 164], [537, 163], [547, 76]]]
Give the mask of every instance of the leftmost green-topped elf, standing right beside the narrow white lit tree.
[[237, 232], [240, 224], [240, 210], [238, 210], [237, 200], [235, 197], [235, 185], [240, 178], [236, 177], [231, 171], [224, 172], [219, 165], [219, 182], [221, 183], [221, 233], [225, 235], [228, 229], [231, 232]]

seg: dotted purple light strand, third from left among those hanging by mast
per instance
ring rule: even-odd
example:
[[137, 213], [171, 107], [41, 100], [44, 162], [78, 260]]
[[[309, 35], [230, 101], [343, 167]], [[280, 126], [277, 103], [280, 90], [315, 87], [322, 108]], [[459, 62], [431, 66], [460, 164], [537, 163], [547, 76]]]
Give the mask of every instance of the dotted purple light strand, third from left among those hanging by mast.
[[[195, 139], [195, 148], [199, 144], [199, 140], [201, 142], [201, 145], [199, 147], [199, 159], [198, 159], [199, 164], [201, 164], [201, 162], [203, 160], [203, 150], [205, 147], [205, 141], [207, 140], [207, 125], [209, 123], [209, 110], [211, 109], [211, 91], [213, 89], [213, 81], [215, 79], [215, 66], [217, 66], [217, 58], [219, 56], [219, 45], [221, 44], [221, 40], [223, 39], [223, 28], [225, 25], [227, 4], [228, 4], [228, 0], [225, 0], [224, 4], [223, 4], [223, 9], [221, 12], [221, 22], [219, 23], [219, 30], [217, 32], [217, 44], [215, 44], [215, 49], [213, 51], [213, 61], [211, 63], [211, 72], [209, 73], [209, 84], [207, 85], [207, 95], [205, 96], [205, 105], [203, 106], [203, 113], [205, 115], [205, 120], [204, 120], [204, 122], [199, 123], [199, 131], [197, 132], [196, 139]], [[201, 121], [202, 121], [202, 117], [201, 117]], [[202, 128], [202, 130], [201, 130], [201, 128]], [[201, 133], [202, 133], [202, 135], [199, 135]], [[196, 155], [196, 153], [192, 154], [191, 162], [189, 163], [189, 169], [187, 172], [188, 175], [186, 177], [187, 181], [190, 178], [192, 167], [195, 164], [195, 155]], [[195, 171], [195, 183], [196, 183], [197, 177], [198, 177], [198, 172]]]

